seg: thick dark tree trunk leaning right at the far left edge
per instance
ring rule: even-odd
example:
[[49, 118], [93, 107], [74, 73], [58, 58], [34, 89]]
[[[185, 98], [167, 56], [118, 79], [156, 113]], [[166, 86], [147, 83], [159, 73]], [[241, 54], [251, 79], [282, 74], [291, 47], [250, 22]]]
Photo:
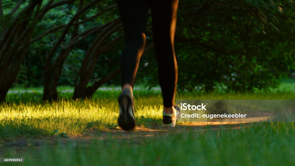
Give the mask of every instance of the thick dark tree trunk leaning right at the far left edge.
[[1, 38], [0, 102], [5, 102], [5, 96], [17, 77], [35, 27], [35, 24], [31, 24], [33, 19], [23, 20], [21, 18], [30, 18], [35, 7], [41, 5], [39, 2], [32, 1], [29, 3], [14, 19], [12, 25], [4, 32]]

